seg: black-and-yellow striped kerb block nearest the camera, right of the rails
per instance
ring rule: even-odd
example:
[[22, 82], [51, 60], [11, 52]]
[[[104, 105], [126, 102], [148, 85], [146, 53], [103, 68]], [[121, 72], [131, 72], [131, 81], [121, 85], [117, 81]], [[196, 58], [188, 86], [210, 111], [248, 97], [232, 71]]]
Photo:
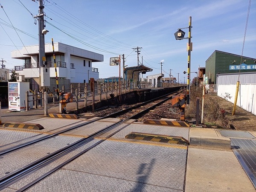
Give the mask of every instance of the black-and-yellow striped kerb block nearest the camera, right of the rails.
[[180, 145], [188, 145], [189, 141], [183, 137], [179, 136], [169, 136], [169, 135], [159, 135], [159, 134], [147, 134], [139, 132], [131, 132], [125, 136], [126, 139], [133, 140], [145, 140], [145, 141], [155, 141], [163, 143], [175, 143]]

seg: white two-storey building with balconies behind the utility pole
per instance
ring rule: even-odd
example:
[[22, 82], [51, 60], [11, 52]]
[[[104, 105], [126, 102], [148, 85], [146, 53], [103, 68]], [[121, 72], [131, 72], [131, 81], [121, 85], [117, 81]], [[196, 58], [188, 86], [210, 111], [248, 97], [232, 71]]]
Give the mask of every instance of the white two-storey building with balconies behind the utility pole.
[[[25, 79], [39, 79], [39, 47], [26, 46], [21, 50], [12, 51], [12, 58], [22, 59], [22, 66], [13, 70]], [[103, 55], [62, 43], [54, 43], [57, 76], [70, 79], [71, 83], [88, 83], [90, 78], [99, 79], [99, 70], [92, 67], [92, 62], [103, 61]], [[49, 67], [50, 78], [55, 78], [55, 66], [52, 44], [45, 44], [45, 56]]]

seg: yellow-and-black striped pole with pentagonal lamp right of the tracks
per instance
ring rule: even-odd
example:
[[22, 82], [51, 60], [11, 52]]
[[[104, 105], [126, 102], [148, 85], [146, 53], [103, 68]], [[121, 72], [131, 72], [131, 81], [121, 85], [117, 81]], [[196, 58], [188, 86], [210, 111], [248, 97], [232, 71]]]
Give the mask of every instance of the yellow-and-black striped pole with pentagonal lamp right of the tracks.
[[[180, 28], [178, 29], [177, 32], [175, 32], [175, 39], [176, 40], [181, 40], [181, 39], [189, 39], [189, 43], [187, 44], [187, 51], [188, 51], [188, 79], [187, 79], [187, 96], [186, 96], [186, 102], [187, 104], [189, 104], [189, 95], [190, 95], [190, 54], [191, 54], [191, 51], [192, 51], [192, 42], [191, 42], [191, 20], [192, 20], [192, 17], [190, 16], [189, 17], [189, 27], [185, 27], [185, 28]], [[189, 29], [189, 37], [187, 38], [184, 38], [185, 36], [185, 32], [183, 32], [181, 29]]]

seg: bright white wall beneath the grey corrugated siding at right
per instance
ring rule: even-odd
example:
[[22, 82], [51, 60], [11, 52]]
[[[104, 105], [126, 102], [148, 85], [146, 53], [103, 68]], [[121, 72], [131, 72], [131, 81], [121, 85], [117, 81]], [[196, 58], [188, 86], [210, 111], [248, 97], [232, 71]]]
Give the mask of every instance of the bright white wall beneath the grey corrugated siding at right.
[[[234, 103], [235, 95], [236, 84], [218, 85], [218, 96]], [[240, 84], [236, 105], [256, 115], [256, 84]]]

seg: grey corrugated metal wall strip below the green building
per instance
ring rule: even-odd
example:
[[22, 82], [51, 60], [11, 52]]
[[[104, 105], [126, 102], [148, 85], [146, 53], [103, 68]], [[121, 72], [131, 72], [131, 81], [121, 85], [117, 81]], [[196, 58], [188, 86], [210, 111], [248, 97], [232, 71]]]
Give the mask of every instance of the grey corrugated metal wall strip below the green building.
[[[236, 84], [238, 81], [239, 73], [217, 74], [216, 84]], [[240, 73], [240, 84], [256, 83], [256, 72]]]

